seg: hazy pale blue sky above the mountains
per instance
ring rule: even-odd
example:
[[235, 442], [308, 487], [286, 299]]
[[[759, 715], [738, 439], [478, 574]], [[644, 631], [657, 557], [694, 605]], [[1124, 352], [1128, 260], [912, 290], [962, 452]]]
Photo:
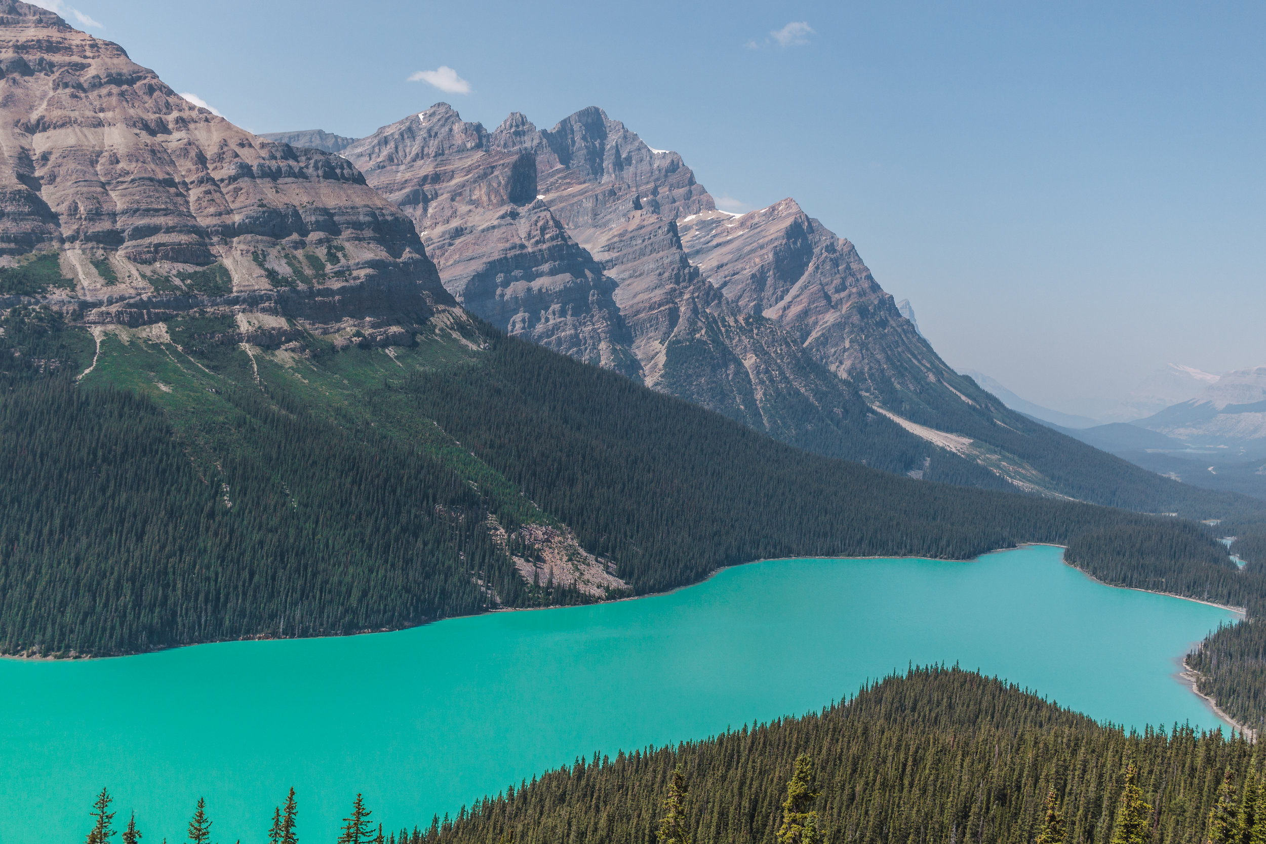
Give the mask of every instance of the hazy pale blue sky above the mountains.
[[1266, 363], [1262, 4], [46, 3], [254, 132], [600, 105], [1041, 404]]

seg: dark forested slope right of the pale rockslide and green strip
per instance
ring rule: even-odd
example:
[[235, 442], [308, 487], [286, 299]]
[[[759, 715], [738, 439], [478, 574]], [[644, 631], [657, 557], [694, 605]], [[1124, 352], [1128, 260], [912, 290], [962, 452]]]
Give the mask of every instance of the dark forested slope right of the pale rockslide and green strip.
[[487, 337], [470, 369], [419, 372], [401, 391], [586, 547], [620, 559], [638, 590], [749, 559], [966, 558], [1127, 525], [1225, 558], [1190, 523], [824, 459], [524, 340]]

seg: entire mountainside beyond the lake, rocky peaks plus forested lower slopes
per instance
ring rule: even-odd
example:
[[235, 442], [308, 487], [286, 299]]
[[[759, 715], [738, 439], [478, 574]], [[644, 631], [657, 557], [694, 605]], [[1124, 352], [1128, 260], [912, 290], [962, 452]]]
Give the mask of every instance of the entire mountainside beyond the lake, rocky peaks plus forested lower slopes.
[[762, 557], [1095, 559], [1124, 531], [1231, 566], [1082, 502], [1266, 515], [1006, 409], [793, 200], [719, 211], [599, 109], [486, 132], [438, 104], [296, 147], [16, 0], [0, 71], [5, 653], [399, 628]]

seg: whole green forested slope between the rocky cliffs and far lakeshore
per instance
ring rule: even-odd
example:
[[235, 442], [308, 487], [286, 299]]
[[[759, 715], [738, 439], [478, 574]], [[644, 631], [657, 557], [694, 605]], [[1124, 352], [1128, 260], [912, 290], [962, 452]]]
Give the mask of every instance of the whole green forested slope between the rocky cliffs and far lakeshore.
[[[758, 558], [1119, 529], [1232, 566], [1191, 523], [800, 452], [458, 310], [390, 347], [214, 309], [87, 328], [19, 306], [3, 326], [5, 653], [346, 634]], [[1118, 553], [1082, 550], [1090, 571]]]

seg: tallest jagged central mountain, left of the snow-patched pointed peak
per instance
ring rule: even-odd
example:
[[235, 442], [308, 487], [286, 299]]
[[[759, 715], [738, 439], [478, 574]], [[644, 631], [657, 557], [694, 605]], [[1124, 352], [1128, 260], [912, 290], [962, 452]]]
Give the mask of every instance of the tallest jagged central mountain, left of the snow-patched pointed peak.
[[[684, 248], [677, 220], [715, 214], [676, 153], [653, 151], [599, 109], [541, 130], [511, 114], [492, 132], [448, 105], [381, 128], [344, 153], [414, 220], [446, 289], [499, 328], [829, 453], [908, 471], [903, 439], [791, 334], [744, 313]], [[909, 464], [909, 466], [908, 466]]]

